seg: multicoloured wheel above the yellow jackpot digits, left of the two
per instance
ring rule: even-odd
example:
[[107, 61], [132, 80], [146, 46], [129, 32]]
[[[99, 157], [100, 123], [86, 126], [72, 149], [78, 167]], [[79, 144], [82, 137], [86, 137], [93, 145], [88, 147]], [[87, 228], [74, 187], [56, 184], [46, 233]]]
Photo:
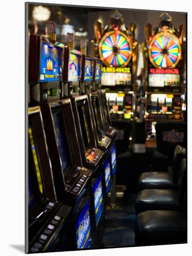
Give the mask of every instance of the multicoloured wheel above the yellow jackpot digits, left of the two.
[[99, 43], [99, 55], [107, 67], [125, 67], [132, 56], [131, 40], [121, 31], [110, 31]]

